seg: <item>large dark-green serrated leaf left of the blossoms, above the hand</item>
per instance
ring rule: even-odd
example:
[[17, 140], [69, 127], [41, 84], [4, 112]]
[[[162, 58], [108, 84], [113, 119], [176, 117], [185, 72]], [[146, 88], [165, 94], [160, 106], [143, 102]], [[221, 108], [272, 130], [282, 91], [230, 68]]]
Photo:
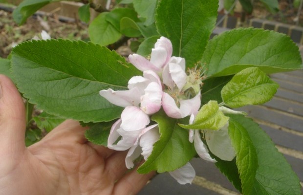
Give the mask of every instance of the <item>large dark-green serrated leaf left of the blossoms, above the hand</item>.
[[84, 122], [119, 117], [123, 108], [109, 103], [99, 91], [126, 90], [130, 78], [142, 73], [105, 46], [67, 40], [18, 45], [13, 49], [12, 70], [30, 103]]

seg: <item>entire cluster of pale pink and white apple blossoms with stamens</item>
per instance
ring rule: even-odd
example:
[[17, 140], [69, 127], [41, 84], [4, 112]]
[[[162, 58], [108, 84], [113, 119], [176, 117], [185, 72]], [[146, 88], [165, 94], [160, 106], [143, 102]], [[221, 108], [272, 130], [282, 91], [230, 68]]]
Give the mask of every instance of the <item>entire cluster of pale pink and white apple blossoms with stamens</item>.
[[[172, 56], [172, 52], [171, 41], [161, 37], [155, 43], [150, 59], [138, 54], [129, 56], [130, 63], [143, 72], [143, 76], [134, 76], [129, 80], [129, 90], [114, 91], [109, 88], [100, 91], [100, 95], [110, 103], [124, 107], [120, 119], [111, 127], [108, 148], [116, 151], [129, 150], [125, 159], [129, 169], [134, 166], [133, 161], [140, 155], [147, 160], [153, 144], [160, 138], [158, 125], [150, 120], [152, 114], [163, 108], [168, 117], [179, 119], [191, 116], [192, 123], [201, 106], [200, 69], [189, 69], [186, 73], [185, 59]], [[215, 155], [218, 154], [223, 160], [232, 160], [235, 152], [231, 147], [227, 127], [228, 124], [217, 132], [190, 130], [189, 141], [194, 142], [195, 150], [201, 158], [216, 162], [202, 142], [200, 132], [212, 138], [209, 140], [224, 139], [225, 145], [217, 145], [215, 142], [213, 144], [211, 141], [208, 144], [220, 150], [219, 152], [214, 150]], [[231, 149], [229, 152], [220, 148], [228, 144], [228, 148]], [[210, 150], [212, 151], [211, 148]], [[180, 184], [186, 184], [194, 179], [195, 170], [187, 163], [170, 174]]]

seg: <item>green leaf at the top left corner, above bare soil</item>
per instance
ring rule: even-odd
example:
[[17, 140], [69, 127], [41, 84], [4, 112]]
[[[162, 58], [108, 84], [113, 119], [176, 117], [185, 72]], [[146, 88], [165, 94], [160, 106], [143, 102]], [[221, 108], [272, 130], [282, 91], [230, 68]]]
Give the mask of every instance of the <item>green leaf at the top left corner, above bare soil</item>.
[[53, 0], [23, 0], [13, 11], [13, 18], [15, 22], [21, 25], [28, 17], [50, 2], [53, 2]]

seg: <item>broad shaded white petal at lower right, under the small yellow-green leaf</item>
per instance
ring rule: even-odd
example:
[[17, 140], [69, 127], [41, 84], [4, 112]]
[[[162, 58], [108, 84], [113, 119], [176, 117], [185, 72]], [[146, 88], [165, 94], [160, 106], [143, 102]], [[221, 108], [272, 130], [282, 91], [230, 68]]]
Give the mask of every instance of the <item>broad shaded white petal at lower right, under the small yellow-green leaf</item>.
[[228, 135], [228, 124], [220, 130], [204, 130], [209, 150], [222, 160], [231, 161], [236, 156]]

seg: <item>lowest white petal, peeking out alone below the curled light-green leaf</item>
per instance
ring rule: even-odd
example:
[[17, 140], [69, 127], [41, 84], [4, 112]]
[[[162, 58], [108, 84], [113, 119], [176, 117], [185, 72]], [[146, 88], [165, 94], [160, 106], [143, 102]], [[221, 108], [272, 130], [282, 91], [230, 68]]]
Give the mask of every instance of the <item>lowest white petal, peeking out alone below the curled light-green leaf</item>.
[[186, 163], [183, 167], [174, 170], [173, 172], [169, 172], [170, 175], [177, 180], [179, 184], [192, 184], [195, 178], [195, 169], [191, 165], [191, 163]]

